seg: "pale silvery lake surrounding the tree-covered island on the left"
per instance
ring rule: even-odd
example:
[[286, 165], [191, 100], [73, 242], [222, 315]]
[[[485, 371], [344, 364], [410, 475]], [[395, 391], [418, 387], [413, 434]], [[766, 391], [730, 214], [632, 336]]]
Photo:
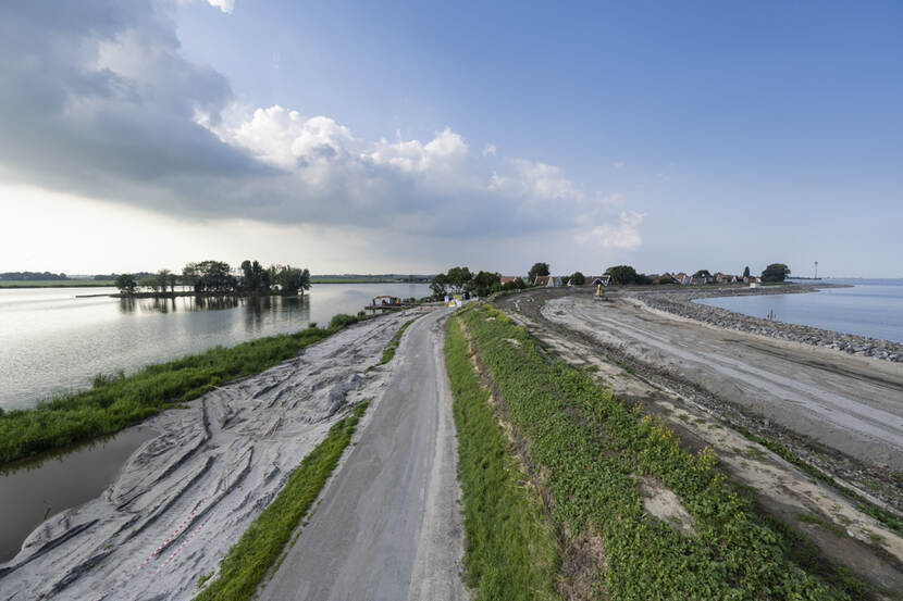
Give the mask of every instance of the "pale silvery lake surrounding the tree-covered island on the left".
[[319, 284], [304, 298], [111, 299], [115, 288], [0, 289], [0, 408], [90, 385], [97, 374], [136, 371], [217, 345], [296, 331], [375, 296], [421, 298], [426, 284]]

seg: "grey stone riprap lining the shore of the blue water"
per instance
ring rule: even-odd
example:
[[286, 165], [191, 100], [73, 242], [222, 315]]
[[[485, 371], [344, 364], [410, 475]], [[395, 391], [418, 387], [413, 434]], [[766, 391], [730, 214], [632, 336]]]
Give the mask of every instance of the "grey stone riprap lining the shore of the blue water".
[[903, 363], [903, 345], [899, 342], [854, 334], [841, 334], [812, 326], [763, 320], [718, 306], [691, 302], [695, 299], [713, 297], [815, 292], [819, 288], [832, 287], [841, 286], [831, 284], [787, 284], [784, 286], [768, 286], [764, 288], [740, 286], [723, 286], [717, 288], [667, 287], [667, 289], [650, 291], [626, 290], [626, 292], [627, 296], [635, 298], [650, 309], [665, 311], [673, 315], [714, 326], [770, 336], [783, 340], [793, 340], [814, 347], [837, 349], [850, 354]]

